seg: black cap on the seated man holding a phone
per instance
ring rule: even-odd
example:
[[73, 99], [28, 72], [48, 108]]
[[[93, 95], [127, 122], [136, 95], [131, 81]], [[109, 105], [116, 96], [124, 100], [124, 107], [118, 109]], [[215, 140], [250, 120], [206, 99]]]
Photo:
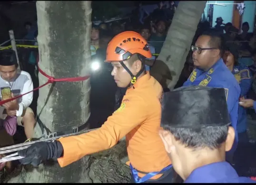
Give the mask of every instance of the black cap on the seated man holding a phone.
[[0, 65], [10, 66], [17, 64], [15, 51], [12, 49], [0, 50]]

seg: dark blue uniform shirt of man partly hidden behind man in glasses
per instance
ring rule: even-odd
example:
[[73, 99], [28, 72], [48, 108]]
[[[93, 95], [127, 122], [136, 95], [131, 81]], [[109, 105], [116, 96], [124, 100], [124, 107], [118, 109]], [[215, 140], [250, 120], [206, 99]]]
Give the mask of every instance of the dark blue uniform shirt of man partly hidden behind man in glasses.
[[[234, 66], [232, 71], [236, 81], [239, 83], [241, 88], [240, 96], [246, 98], [246, 94], [251, 88], [252, 85], [252, 75], [250, 74], [249, 68], [245, 65]], [[237, 132], [243, 133], [247, 129], [247, 115], [246, 109], [242, 106], [238, 106], [238, 121], [237, 121]]]

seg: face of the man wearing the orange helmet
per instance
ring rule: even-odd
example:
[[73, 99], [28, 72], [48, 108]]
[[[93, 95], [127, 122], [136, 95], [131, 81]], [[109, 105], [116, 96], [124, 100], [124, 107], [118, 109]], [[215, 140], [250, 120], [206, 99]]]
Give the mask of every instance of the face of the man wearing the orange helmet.
[[[141, 69], [142, 63], [137, 60], [133, 64], [129, 64], [128, 60], [123, 62], [128, 67], [133, 75], [138, 74]], [[128, 74], [126, 69], [120, 64], [120, 62], [111, 62], [113, 70], [111, 75], [114, 77], [115, 83], [118, 87], [127, 87], [131, 82], [131, 75]]]

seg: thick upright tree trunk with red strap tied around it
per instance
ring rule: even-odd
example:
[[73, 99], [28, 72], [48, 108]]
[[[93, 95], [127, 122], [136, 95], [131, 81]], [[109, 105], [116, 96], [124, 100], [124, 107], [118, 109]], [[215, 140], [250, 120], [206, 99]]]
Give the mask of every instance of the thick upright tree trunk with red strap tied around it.
[[[39, 67], [55, 78], [88, 74], [90, 62], [91, 1], [37, 1]], [[39, 85], [47, 82], [39, 74]], [[52, 132], [84, 124], [90, 115], [89, 80], [57, 82], [39, 90], [39, 120]], [[38, 124], [37, 124], [38, 125]], [[38, 126], [36, 137], [41, 136]], [[25, 167], [24, 167], [25, 168]], [[57, 162], [26, 166], [9, 182], [88, 183], [88, 157], [60, 168]], [[16, 180], [15, 180], [16, 179]]]

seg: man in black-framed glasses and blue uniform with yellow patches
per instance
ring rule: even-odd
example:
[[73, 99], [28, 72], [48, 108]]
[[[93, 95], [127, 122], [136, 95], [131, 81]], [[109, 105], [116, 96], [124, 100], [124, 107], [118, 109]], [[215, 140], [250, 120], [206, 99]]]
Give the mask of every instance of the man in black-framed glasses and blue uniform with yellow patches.
[[[200, 85], [225, 89], [228, 113], [236, 131], [233, 147], [227, 153], [228, 160], [232, 161], [238, 142], [236, 126], [240, 86], [223, 62], [224, 48], [219, 36], [214, 33], [204, 33], [197, 38], [195, 46], [191, 46], [191, 49], [193, 63], [196, 68], [183, 86]], [[207, 100], [202, 99], [202, 101]]]

